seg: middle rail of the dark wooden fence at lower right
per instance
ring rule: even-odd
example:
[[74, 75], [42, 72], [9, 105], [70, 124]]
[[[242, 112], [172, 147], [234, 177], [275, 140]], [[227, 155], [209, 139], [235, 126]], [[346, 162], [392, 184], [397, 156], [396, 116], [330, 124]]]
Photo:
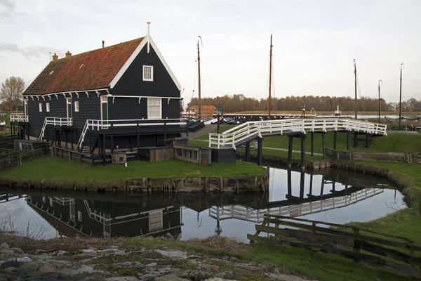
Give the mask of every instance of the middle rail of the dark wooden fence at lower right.
[[300, 240], [314, 240], [319, 242], [327, 242], [330, 244], [336, 244], [345, 247], [352, 247], [356, 249], [360, 249], [363, 251], [369, 251], [373, 254], [378, 254], [380, 256], [386, 256], [392, 259], [396, 259], [397, 261], [403, 261], [406, 263], [410, 263], [412, 265], [420, 266], [421, 259], [417, 257], [412, 257], [408, 254], [402, 253], [401, 251], [397, 251], [395, 249], [389, 249], [382, 247], [380, 245], [371, 244], [366, 241], [356, 240], [351, 237], [341, 237], [335, 235], [326, 235], [322, 233], [311, 233], [309, 231], [303, 230], [295, 230], [289, 228], [273, 228], [270, 226], [255, 226], [256, 230], [265, 233], [271, 233], [274, 235], [283, 235], [286, 237], [293, 237]]

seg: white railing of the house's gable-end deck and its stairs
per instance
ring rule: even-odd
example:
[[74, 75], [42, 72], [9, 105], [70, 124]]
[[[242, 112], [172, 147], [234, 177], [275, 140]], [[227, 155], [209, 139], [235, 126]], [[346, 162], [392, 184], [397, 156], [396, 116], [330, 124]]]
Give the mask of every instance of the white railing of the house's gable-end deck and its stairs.
[[117, 119], [117, 120], [97, 120], [87, 119], [83, 127], [77, 147], [83, 146], [86, 133], [88, 130], [107, 130], [110, 127], [127, 127], [127, 126], [180, 126], [186, 125], [188, 119]]

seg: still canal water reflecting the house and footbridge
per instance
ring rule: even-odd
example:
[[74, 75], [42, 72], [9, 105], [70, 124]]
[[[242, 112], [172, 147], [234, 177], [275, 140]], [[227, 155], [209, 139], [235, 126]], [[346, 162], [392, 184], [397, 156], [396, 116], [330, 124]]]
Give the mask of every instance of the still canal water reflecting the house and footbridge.
[[116, 194], [0, 188], [0, 228], [36, 238], [220, 234], [247, 242], [264, 214], [330, 223], [370, 221], [406, 208], [389, 181], [347, 171], [270, 168], [265, 194]]

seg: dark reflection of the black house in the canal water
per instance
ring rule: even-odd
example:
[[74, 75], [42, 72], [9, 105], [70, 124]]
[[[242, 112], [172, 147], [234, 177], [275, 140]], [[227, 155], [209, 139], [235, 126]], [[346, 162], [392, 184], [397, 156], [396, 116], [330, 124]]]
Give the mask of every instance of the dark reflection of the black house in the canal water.
[[59, 231], [67, 229], [62, 233], [66, 236], [74, 235], [69, 227], [83, 235], [103, 237], [166, 233], [178, 237], [181, 233], [180, 207], [42, 196], [29, 196], [27, 203]]

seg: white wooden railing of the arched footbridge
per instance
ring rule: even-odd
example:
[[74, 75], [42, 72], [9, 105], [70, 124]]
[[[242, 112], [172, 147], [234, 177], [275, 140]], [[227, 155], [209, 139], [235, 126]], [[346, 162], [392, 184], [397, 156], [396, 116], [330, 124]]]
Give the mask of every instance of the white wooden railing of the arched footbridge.
[[387, 136], [386, 124], [376, 124], [352, 119], [280, 119], [270, 121], [246, 122], [235, 126], [224, 133], [209, 133], [209, 147], [220, 148], [236, 145], [250, 138], [262, 135], [283, 135], [289, 133], [306, 133], [307, 131], [357, 131]]

